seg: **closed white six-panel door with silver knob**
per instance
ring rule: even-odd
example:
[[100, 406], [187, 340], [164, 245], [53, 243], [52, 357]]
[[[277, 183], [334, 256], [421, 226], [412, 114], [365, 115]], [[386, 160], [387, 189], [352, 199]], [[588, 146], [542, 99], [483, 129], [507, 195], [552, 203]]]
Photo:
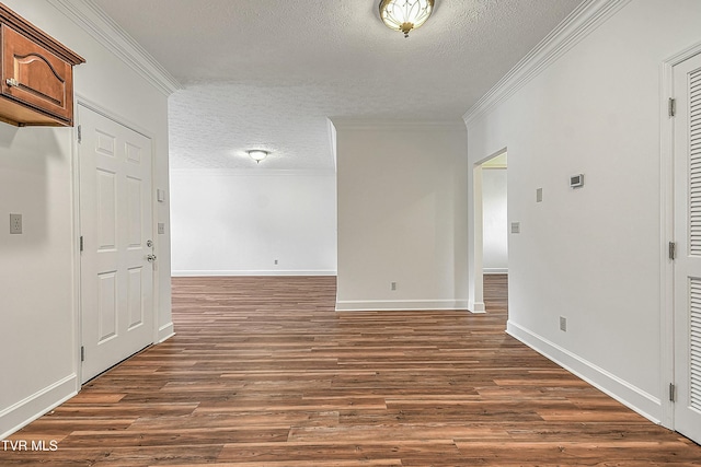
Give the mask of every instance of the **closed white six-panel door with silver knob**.
[[79, 106], [82, 382], [153, 342], [149, 138]]

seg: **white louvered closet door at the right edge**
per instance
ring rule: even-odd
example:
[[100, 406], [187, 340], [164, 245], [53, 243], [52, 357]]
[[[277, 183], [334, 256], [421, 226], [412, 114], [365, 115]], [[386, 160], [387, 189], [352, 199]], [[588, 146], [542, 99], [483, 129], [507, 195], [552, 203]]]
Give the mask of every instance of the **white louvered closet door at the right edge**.
[[701, 443], [701, 55], [674, 68], [675, 430]]

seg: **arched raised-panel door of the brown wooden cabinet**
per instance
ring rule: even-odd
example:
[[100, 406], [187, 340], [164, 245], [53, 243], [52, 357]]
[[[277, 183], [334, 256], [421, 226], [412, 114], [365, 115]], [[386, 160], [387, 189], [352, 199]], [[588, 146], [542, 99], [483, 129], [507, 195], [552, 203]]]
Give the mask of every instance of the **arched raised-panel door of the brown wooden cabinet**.
[[70, 122], [71, 65], [7, 25], [2, 26], [2, 42], [3, 94]]

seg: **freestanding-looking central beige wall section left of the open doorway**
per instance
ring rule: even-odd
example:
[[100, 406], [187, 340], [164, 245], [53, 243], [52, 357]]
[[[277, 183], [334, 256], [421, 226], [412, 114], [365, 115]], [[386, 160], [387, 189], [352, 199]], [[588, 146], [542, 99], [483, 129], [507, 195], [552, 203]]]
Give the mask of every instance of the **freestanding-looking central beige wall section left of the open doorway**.
[[[467, 307], [467, 143], [461, 121], [334, 120], [337, 310]], [[391, 290], [397, 282], [397, 290]]]

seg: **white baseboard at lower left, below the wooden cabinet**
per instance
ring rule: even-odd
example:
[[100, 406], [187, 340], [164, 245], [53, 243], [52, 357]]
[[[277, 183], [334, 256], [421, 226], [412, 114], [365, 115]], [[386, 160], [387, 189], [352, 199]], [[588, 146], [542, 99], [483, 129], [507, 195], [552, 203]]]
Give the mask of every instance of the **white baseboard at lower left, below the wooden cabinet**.
[[[4, 377], [9, 377], [4, 375]], [[30, 424], [78, 394], [76, 373], [0, 411], [0, 440]]]

